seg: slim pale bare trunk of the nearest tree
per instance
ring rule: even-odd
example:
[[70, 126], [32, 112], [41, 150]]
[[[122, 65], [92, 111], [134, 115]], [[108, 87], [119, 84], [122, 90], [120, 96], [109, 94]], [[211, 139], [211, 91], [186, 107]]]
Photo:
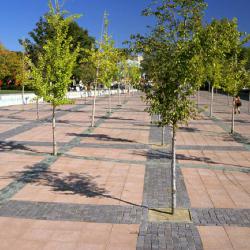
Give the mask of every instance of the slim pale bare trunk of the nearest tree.
[[172, 214], [175, 214], [176, 209], [176, 127], [173, 126], [172, 136], [172, 162], [171, 162], [171, 186], [172, 186]]

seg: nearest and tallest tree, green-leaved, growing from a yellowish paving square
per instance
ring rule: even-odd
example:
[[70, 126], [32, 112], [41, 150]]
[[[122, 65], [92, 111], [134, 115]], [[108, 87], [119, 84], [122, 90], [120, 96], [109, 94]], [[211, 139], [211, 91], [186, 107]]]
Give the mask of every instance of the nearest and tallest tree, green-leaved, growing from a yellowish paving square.
[[[156, 3], [157, 4], [157, 3]], [[172, 213], [176, 209], [176, 131], [180, 123], [194, 116], [193, 94], [203, 78], [194, 35], [201, 26], [205, 4], [202, 0], [161, 0], [144, 11], [153, 15], [156, 25], [147, 37], [137, 35], [136, 48], [147, 59], [153, 81], [146, 91], [150, 114], [160, 114], [161, 127], [172, 126]], [[145, 65], [145, 64], [144, 64]]]

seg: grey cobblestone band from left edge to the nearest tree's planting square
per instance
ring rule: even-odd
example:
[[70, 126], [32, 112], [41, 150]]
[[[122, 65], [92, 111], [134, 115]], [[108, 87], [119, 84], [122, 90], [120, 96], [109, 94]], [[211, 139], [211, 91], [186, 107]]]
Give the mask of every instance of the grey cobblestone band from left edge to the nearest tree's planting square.
[[139, 224], [147, 217], [140, 206], [81, 205], [10, 200], [0, 207], [0, 216], [38, 220]]

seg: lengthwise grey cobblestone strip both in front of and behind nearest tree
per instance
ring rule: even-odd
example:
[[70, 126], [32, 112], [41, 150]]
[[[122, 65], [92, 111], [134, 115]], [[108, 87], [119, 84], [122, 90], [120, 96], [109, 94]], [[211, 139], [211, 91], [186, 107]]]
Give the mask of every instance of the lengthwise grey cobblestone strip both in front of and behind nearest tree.
[[[169, 145], [170, 128], [166, 128], [165, 136], [165, 143]], [[160, 142], [160, 128], [151, 126], [149, 143], [159, 145]], [[145, 207], [155, 209], [171, 207], [171, 155], [168, 148], [165, 146], [164, 149], [151, 149], [148, 152], [143, 191]], [[180, 168], [177, 169], [177, 207], [190, 208]], [[136, 249], [202, 250], [203, 247], [199, 232], [192, 223], [151, 223], [143, 220]]]

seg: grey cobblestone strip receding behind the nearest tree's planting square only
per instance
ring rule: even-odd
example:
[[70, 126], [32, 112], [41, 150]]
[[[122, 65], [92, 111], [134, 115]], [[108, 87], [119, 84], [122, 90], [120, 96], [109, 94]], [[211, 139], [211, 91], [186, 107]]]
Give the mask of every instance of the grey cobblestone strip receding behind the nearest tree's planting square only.
[[[166, 128], [165, 142], [171, 139], [170, 129]], [[152, 126], [150, 130], [149, 143], [160, 144], [161, 131]], [[177, 169], [177, 207], [189, 208], [190, 202], [181, 174]], [[171, 207], [171, 155], [165, 149], [149, 150], [145, 170], [143, 205], [150, 208]]]

